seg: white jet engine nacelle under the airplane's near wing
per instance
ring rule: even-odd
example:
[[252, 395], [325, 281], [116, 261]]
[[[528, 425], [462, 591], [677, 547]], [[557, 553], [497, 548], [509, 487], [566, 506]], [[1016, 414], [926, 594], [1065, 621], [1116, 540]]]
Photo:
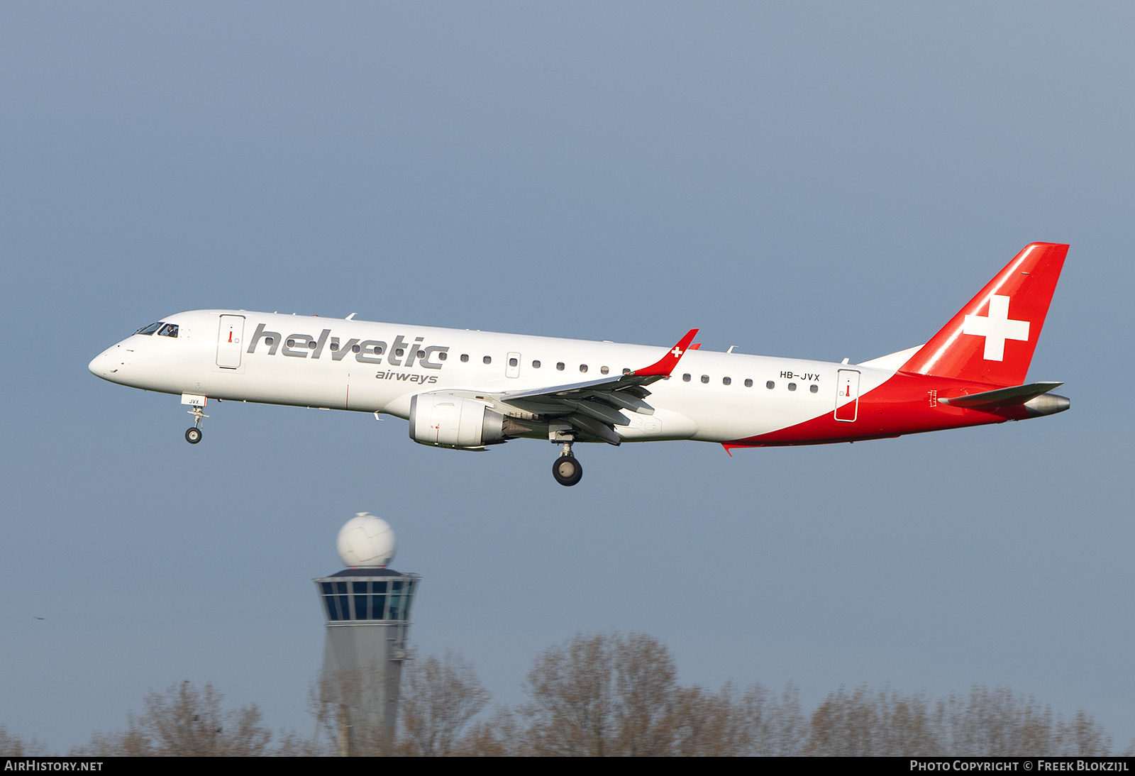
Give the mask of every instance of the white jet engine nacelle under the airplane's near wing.
[[505, 416], [482, 402], [460, 396], [410, 397], [410, 438], [434, 447], [471, 448], [507, 441]]

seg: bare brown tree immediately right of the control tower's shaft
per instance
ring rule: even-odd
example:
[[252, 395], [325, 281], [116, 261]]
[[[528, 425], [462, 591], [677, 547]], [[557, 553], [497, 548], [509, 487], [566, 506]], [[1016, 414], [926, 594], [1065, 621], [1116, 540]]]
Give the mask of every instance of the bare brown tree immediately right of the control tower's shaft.
[[461, 731], [489, 702], [488, 690], [460, 655], [429, 656], [403, 672], [400, 749], [422, 757], [451, 753]]

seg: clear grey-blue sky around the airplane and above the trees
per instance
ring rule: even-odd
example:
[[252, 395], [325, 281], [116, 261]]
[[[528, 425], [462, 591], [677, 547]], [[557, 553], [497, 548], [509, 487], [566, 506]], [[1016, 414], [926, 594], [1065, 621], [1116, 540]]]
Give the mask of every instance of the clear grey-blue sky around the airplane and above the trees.
[[[0, 7], [0, 724], [64, 750], [212, 682], [308, 731], [355, 512], [495, 701], [577, 632], [687, 683], [1004, 684], [1135, 735], [1123, 3]], [[1029, 373], [1073, 408], [748, 450], [413, 445], [86, 363], [243, 307], [852, 362], [1071, 244]], [[36, 619], [44, 617], [45, 619]]]

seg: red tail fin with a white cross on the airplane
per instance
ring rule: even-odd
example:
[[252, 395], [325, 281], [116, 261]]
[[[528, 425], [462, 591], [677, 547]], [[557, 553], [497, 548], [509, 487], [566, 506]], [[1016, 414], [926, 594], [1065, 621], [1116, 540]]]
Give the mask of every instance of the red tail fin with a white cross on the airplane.
[[1026, 245], [901, 371], [1023, 383], [1067, 254], [1067, 245]]

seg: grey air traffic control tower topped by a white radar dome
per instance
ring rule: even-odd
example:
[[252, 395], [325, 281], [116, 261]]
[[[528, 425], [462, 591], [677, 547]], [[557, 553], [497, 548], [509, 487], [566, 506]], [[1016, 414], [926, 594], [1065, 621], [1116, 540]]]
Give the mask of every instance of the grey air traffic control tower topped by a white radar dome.
[[387, 752], [421, 577], [387, 567], [394, 531], [365, 512], [339, 530], [338, 550], [347, 568], [316, 580], [327, 616], [320, 706], [335, 709], [340, 754]]

